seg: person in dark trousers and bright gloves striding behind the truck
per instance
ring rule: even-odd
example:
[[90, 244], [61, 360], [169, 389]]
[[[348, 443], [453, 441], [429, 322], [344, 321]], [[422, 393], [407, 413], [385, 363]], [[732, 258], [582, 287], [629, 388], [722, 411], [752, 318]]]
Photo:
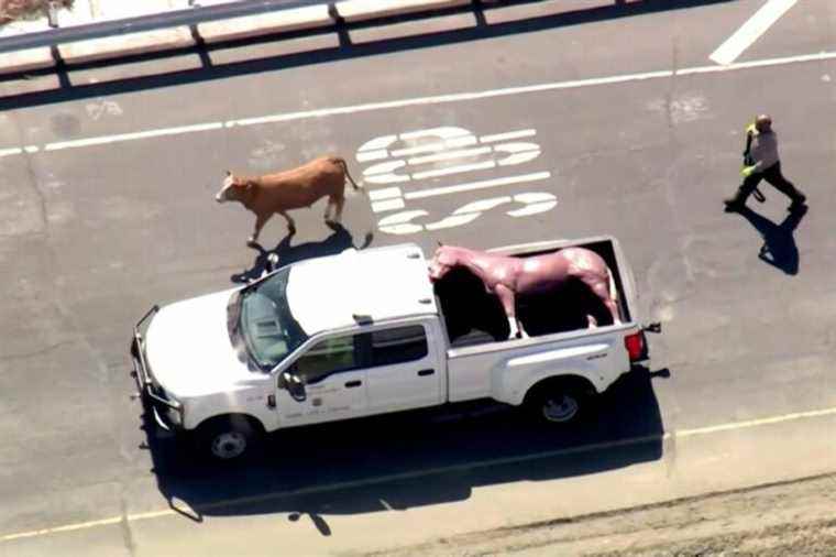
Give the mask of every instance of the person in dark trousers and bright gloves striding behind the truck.
[[743, 209], [746, 205], [746, 198], [755, 192], [761, 179], [769, 182], [792, 200], [791, 211], [804, 207], [806, 196], [781, 174], [781, 161], [778, 159], [778, 134], [772, 131], [772, 119], [768, 114], [760, 114], [755, 119], [755, 123], [746, 129], [746, 134], [747, 151], [744, 153], [746, 166], [740, 171], [744, 182], [733, 197], [723, 200], [726, 204], [726, 211]]

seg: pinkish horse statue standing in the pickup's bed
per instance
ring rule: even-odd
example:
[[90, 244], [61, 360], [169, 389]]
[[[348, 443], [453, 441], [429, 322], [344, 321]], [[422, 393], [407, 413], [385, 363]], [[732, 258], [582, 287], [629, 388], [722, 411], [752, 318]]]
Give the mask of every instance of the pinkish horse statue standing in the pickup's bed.
[[[570, 280], [585, 284], [609, 310], [614, 324], [620, 324], [618, 293], [604, 259], [584, 248], [564, 248], [553, 253], [529, 258], [513, 258], [442, 245], [430, 262], [430, 281], [441, 280], [454, 267], [464, 266], [482, 280], [485, 290], [499, 298], [510, 326], [509, 338], [526, 338], [522, 324], [517, 320], [517, 295], [536, 294], [557, 288]], [[590, 327], [595, 318], [587, 315]]]

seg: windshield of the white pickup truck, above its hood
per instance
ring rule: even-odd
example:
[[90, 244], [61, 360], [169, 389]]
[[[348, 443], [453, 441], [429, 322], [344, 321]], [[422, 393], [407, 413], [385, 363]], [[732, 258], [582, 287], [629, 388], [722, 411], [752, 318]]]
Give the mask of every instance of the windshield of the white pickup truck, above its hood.
[[285, 292], [290, 269], [246, 288], [234, 304], [239, 313], [237, 329], [250, 357], [264, 370], [275, 368], [308, 336], [290, 314]]

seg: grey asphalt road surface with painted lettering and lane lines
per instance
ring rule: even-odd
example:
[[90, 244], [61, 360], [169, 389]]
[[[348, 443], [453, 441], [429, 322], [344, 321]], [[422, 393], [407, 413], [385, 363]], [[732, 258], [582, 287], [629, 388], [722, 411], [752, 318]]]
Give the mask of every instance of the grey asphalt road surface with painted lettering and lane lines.
[[[362, 554], [833, 471], [836, 11], [710, 61], [762, 4], [535, 3], [0, 84], [0, 555]], [[723, 212], [762, 111], [804, 215], [766, 184]], [[381, 166], [441, 140], [465, 146]], [[663, 323], [652, 365], [560, 437], [366, 421], [197, 468], [129, 400], [132, 327], [261, 271], [252, 216], [213, 200], [228, 168], [324, 153], [369, 198], [337, 230], [324, 204], [271, 221], [282, 262], [613, 234]]]

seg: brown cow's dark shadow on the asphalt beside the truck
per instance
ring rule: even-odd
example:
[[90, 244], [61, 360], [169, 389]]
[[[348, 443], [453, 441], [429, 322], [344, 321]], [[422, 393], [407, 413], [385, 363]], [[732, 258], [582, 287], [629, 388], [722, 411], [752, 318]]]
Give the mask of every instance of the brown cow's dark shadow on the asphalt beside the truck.
[[298, 245], [292, 245], [290, 242], [295, 236], [295, 232], [288, 232], [278, 244], [272, 250], [265, 250], [260, 244], [253, 244], [253, 249], [258, 252], [255, 256], [253, 265], [243, 271], [242, 273], [233, 274], [230, 276], [230, 281], [233, 283], [249, 283], [260, 278], [264, 272], [271, 272], [279, 266], [296, 263], [310, 258], [318, 258], [322, 255], [336, 255], [350, 248], [356, 250], [364, 250], [367, 248], [374, 234], [366, 232], [361, 245], [354, 245], [354, 238], [351, 233], [340, 223], [328, 223], [328, 228], [332, 230], [332, 233], [320, 242], [305, 242]]

